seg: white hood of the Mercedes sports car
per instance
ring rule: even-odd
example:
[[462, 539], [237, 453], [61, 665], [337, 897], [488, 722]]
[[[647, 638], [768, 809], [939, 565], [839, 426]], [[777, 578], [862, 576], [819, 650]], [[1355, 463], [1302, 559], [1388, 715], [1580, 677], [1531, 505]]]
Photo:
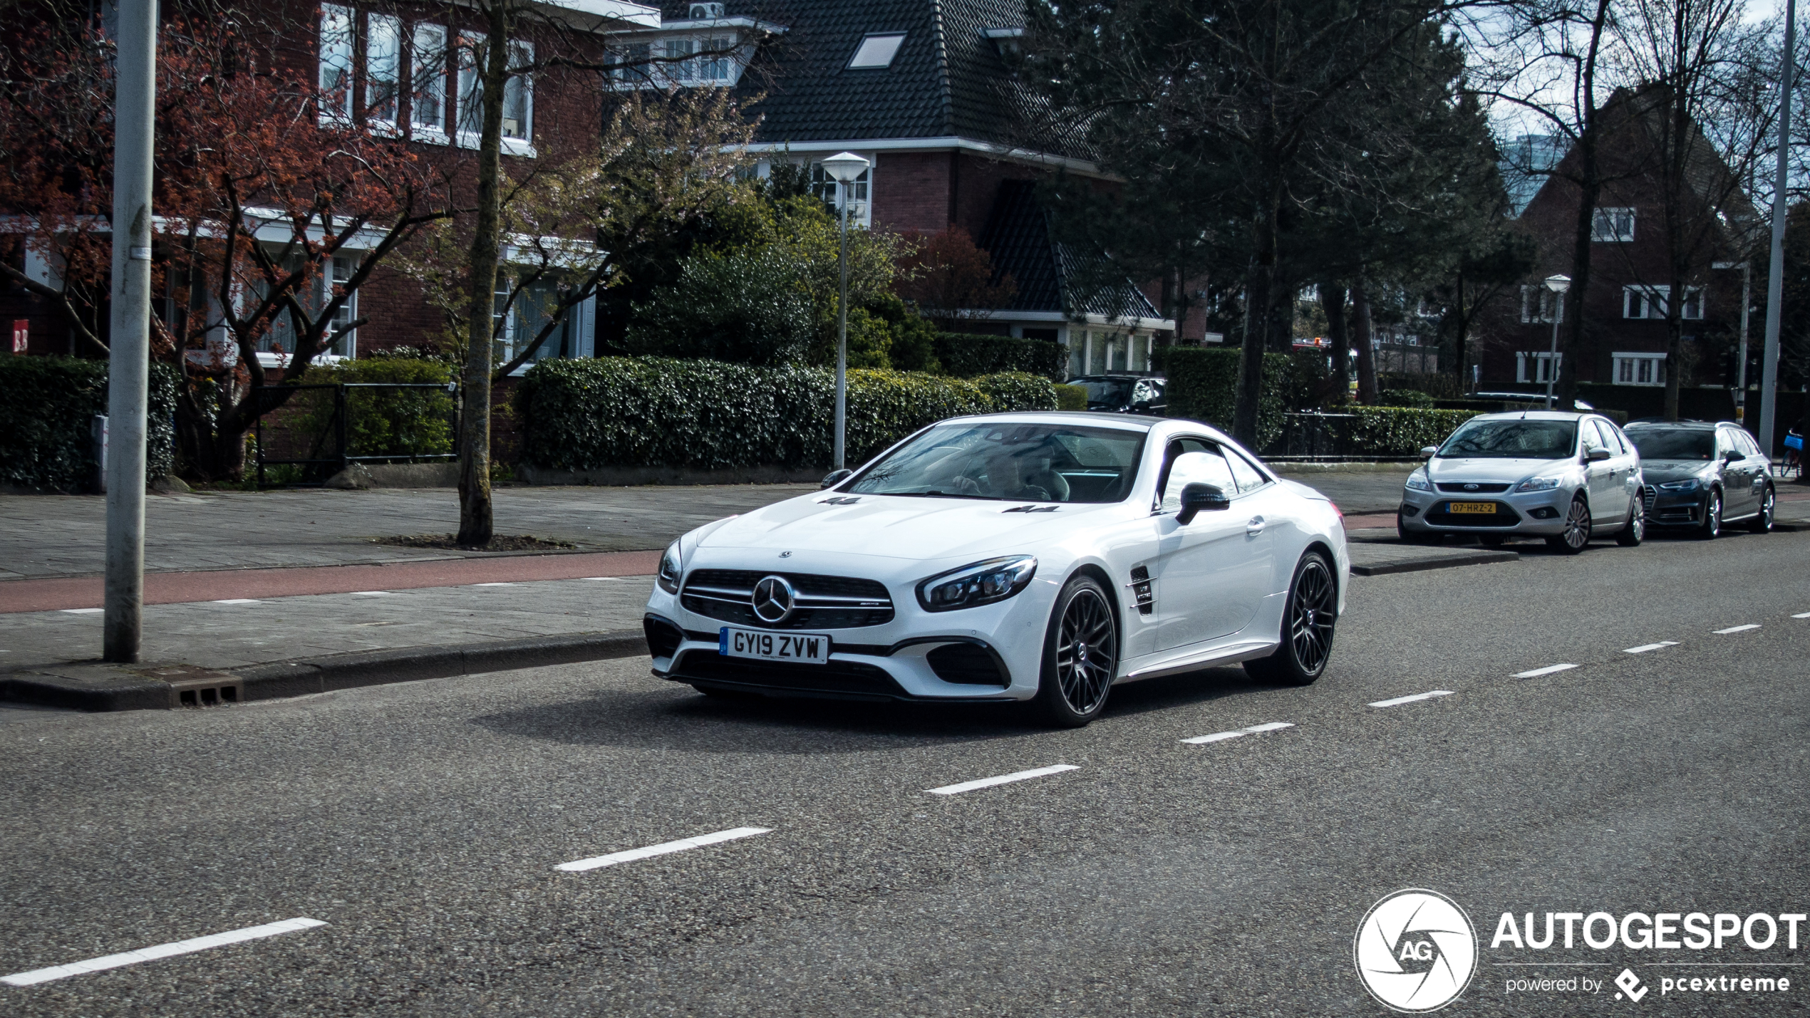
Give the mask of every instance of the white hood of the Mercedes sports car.
[[[829, 499], [856, 499], [831, 504]], [[1006, 512], [1032, 506], [1041, 512]], [[910, 562], [1005, 553], [1035, 553], [1072, 535], [1082, 521], [1122, 515], [1124, 503], [1057, 504], [990, 499], [921, 499], [816, 492], [738, 515], [700, 542], [700, 550], [780, 550], [865, 555]], [[959, 562], [957, 562], [959, 564]]]

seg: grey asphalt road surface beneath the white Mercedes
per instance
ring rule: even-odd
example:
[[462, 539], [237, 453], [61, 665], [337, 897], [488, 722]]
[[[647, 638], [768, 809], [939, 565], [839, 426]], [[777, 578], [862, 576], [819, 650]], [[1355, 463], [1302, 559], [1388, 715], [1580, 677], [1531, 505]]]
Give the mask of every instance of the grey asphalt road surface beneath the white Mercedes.
[[[1805, 562], [1806, 533], [1743, 533], [1356, 579], [1319, 683], [1151, 680], [1072, 732], [724, 705], [635, 660], [27, 718], [0, 727], [0, 975], [324, 926], [0, 985], [0, 1013], [1386, 1014], [1352, 937], [1399, 888], [1475, 926], [1444, 1014], [1801, 1013], [1810, 928], [1765, 951], [1491, 933], [1810, 911]], [[1263, 723], [1291, 727], [1180, 741]], [[1073, 768], [927, 792], [1050, 765]], [[735, 828], [767, 834], [556, 870]], [[1506, 991], [1578, 973], [1602, 989]], [[1792, 989], [1660, 996], [1718, 973]]]

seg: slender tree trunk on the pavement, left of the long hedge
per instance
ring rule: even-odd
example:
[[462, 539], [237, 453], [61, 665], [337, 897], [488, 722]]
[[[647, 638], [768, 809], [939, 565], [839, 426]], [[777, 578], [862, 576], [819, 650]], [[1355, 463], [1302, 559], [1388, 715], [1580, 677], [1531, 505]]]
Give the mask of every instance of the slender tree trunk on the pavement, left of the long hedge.
[[503, 175], [503, 87], [509, 81], [509, 11], [487, 4], [483, 130], [478, 136], [478, 217], [471, 240], [471, 333], [465, 342], [458, 436], [458, 544], [483, 548], [496, 533], [491, 512], [491, 335], [496, 316], [498, 222]]

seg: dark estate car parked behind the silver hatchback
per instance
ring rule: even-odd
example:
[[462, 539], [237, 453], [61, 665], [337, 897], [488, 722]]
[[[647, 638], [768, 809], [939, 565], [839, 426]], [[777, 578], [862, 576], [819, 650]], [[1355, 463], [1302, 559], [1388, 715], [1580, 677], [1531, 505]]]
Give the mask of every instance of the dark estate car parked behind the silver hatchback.
[[1647, 479], [1647, 526], [1716, 537], [1725, 523], [1772, 530], [1772, 461], [1741, 425], [1642, 421], [1627, 425]]

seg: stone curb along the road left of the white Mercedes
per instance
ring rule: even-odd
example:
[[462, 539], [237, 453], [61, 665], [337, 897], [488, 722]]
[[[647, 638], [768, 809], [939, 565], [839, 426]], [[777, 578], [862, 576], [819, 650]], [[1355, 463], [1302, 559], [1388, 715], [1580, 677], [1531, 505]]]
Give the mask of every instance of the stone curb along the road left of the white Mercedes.
[[[281, 700], [360, 685], [456, 678], [525, 667], [634, 658], [648, 653], [641, 629], [530, 636], [452, 647], [396, 647], [320, 658], [248, 665], [214, 674], [217, 682], [188, 678], [181, 685], [235, 687], [241, 700]], [[0, 700], [78, 711], [157, 711], [176, 707], [177, 685], [145, 673], [168, 671], [125, 665], [71, 665], [18, 671], [0, 678]]]

